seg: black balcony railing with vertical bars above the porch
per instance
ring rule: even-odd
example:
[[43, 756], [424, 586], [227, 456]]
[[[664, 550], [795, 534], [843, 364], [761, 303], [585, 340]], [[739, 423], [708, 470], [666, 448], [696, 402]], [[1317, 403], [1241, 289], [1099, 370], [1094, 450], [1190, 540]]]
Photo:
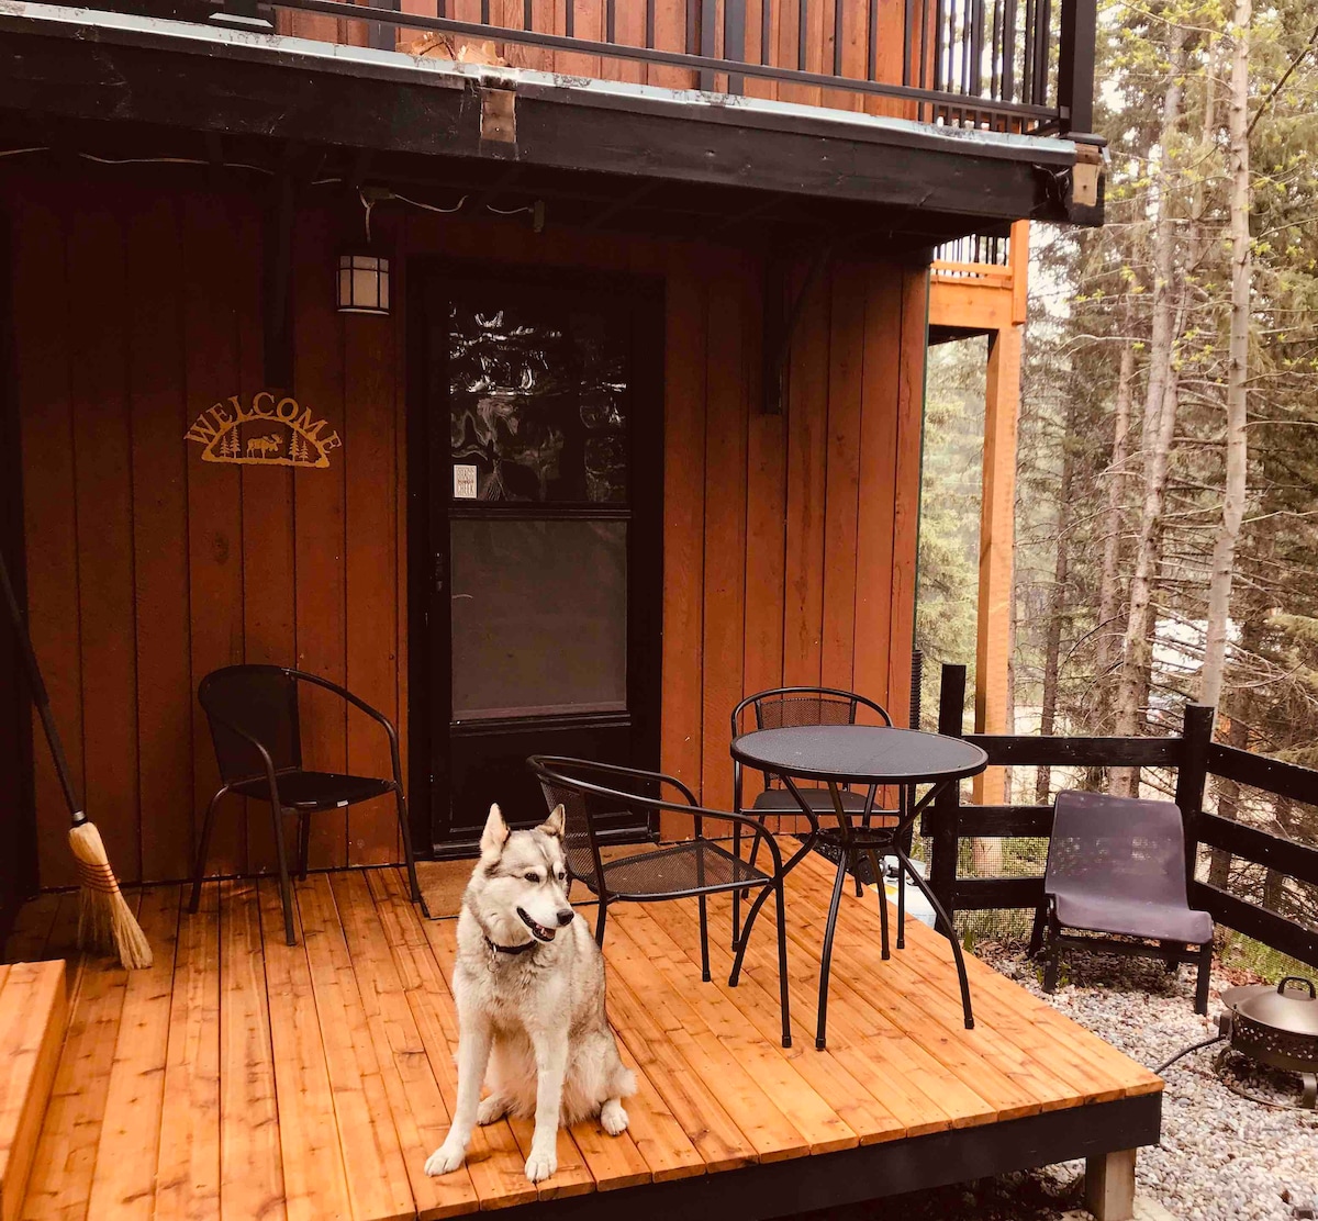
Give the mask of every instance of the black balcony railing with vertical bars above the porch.
[[[348, 0], [212, 3], [239, 18], [274, 8], [362, 22]], [[813, 100], [801, 88], [851, 95], [838, 108], [892, 99], [904, 105], [887, 113], [923, 122], [1040, 134], [1091, 124], [1097, 0], [430, 0], [423, 13], [364, 3], [377, 46], [391, 47], [398, 28], [435, 30], [681, 68], [692, 86], [733, 95], [758, 80], [787, 100]], [[660, 37], [673, 17], [684, 29]]]

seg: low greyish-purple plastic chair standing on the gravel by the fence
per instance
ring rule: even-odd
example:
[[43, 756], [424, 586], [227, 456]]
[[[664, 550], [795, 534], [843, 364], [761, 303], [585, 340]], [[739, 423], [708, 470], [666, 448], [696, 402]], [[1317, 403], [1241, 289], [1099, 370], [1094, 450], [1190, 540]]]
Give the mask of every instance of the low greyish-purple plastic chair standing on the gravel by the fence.
[[[1068, 929], [1090, 935], [1068, 936]], [[1185, 830], [1173, 802], [1057, 794], [1044, 902], [1031, 936], [1031, 952], [1045, 954], [1045, 992], [1057, 987], [1064, 948], [1160, 958], [1169, 971], [1198, 959], [1194, 1009], [1209, 1012], [1213, 917], [1193, 910], [1186, 897]]]

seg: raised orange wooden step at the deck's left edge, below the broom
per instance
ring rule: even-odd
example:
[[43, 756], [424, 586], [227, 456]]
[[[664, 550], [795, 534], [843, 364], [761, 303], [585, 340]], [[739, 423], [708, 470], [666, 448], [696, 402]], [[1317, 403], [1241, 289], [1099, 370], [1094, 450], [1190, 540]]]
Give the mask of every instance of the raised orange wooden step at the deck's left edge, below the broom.
[[65, 964], [0, 965], [0, 1221], [16, 1221], [69, 1029]]

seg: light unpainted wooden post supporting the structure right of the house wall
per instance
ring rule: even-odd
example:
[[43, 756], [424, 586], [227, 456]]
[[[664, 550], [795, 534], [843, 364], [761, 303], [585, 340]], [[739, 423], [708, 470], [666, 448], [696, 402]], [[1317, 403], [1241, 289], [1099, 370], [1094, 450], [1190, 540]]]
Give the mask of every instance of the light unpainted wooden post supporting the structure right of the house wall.
[[[1016, 510], [1016, 412], [1020, 406], [1020, 327], [988, 339], [985, 398], [983, 501], [979, 511], [979, 615], [975, 649], [975, 732], [1007, 732], [1012, 551]], [[1002, 805], [1002, 768], [975, 777], [974, 800]]]

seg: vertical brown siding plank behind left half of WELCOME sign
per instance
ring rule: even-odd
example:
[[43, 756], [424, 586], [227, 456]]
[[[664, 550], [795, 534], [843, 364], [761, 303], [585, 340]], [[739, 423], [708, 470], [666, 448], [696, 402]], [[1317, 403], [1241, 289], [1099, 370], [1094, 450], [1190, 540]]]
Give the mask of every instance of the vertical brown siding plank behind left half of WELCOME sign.
[[[195, 418], [237, 391], [237, 310], [232, 281], [229, 202], [214, 194], [183, 199], [183, 329], [187, 410]], [[187, 443], [188, 599], [192, 661], [194, 826], [220, 785], [196, 686], [211, 670], [243, 661], [241, 468], [202, 461]], [[246, 864], [243, 806], [227, 800], [216, 817], [207, 871], [240, 873]]]

